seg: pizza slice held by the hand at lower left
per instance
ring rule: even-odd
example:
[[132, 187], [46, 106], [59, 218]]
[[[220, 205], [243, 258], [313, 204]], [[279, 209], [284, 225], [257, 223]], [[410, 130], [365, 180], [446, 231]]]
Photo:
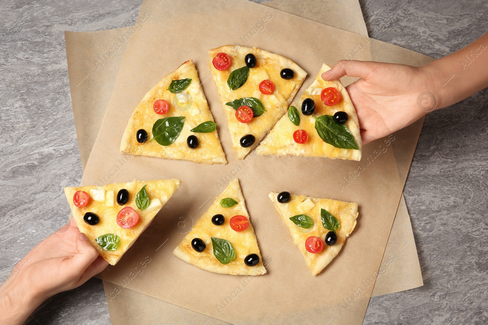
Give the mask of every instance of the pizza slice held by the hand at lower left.
[[178, 179], [66, 187], [73, 218], [93, 247], [116, 265], [180, 187]]

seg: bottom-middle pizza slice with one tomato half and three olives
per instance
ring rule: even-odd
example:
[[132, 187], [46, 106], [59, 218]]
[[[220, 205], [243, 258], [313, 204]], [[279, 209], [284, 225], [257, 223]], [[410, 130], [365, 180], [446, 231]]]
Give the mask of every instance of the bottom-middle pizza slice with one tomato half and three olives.
[[237, 179], [203, 213], [173, 254], [210, 272], [266, 273]]

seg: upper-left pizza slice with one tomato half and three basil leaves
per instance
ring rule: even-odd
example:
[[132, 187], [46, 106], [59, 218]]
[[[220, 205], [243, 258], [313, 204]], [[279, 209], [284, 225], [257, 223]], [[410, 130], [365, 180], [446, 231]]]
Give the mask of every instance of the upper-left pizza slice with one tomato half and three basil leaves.
[[142, 98], [122, 136], [121, 152], [225, 164], [217, 125], [192, 60], [165, 76]]

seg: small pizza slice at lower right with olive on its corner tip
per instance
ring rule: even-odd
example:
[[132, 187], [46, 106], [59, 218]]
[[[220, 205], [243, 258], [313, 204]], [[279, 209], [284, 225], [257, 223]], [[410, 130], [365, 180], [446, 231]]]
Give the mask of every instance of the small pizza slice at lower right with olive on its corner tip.
[[337, 256], [356, 226], [358, 205], [288, 192], [269, 193], [313, 275]]

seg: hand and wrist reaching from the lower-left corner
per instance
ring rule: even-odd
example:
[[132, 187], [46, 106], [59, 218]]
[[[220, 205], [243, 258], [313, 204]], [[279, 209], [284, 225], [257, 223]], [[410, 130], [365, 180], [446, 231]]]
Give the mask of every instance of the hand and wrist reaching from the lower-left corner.
[[42, 301], [80, 286], [107, 265], [72, 218], [29, 251], [0, 287], [0, 324], [22, 324]]

